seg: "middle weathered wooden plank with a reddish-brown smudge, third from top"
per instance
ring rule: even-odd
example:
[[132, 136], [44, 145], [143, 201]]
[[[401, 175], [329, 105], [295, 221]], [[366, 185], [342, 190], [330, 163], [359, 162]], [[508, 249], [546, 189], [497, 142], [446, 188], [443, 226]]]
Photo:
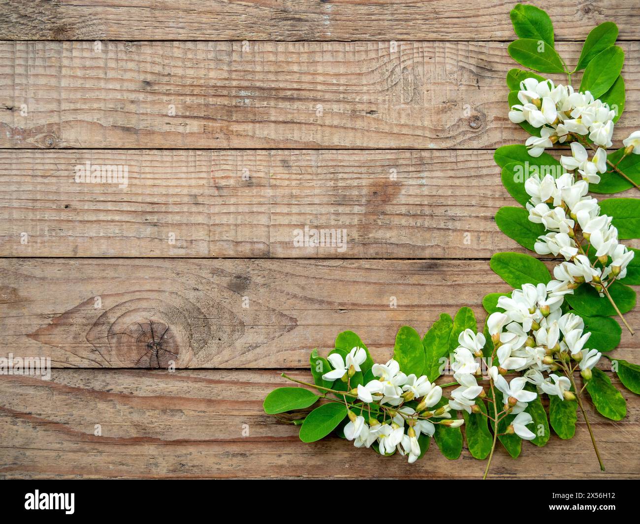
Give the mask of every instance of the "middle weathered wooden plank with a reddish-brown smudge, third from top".
[[[125, 184], [76, 183], [76, 168], [86, 171], [86, 163], [123, 166]], [[0, 150], [0, 177], [4, 256], [490, 258], [525, 251], [493, 221], [515, 201], [486, 150]], [[334, 235], [301, 245], [305, 227]]]

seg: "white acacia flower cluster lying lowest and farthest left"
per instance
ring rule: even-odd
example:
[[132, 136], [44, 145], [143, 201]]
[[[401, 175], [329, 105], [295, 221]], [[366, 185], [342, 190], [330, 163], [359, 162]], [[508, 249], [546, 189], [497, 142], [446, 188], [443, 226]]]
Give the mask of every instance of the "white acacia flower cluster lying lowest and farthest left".
[[[360, 365], [366, 357], [362, 347], [354, 347], [344, 359], [337, 353], [330, 355], [328, 361], [333, 369], [323, 374], [323, 379], [342, 379], [349, 384], [351, 377], [360, 371]], [[397, 450], [408, 456], [409, 463], [413, 463], [421, 452], [418, 441], [420, 434], [433, 436], [434, 423], [450, 427], [463, 424], [462, 419], [451, 420], [449, 405], [430, 409], [442, 399], [442, 388], [429, 382], [425, 375], [404, 374], [394, 359], [385, 364], [374, 364], [371, 372], [378, 378], [349, 390], [350, 395], [363, 402], [351, 406], [357, 408], [361, 415], [348, 409], [349, 422], [344, 427], [344, 436], [353, 441], [355, 447], [368, 448], [377, 443], [380, 454], [386, 455]], [[412, 401], [417, 402], [415, 409], [405, 404]], [[364, 417], [365, 411], [368, 419]], [[378, 420], [380, 415], [382, 420]]]

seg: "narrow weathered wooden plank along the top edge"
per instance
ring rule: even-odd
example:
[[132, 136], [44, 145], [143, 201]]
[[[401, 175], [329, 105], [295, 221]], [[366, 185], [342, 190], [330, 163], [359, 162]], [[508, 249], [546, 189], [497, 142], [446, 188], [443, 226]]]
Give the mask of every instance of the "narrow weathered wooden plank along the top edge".
[[[513, 38], [506, 0], [19, 0], [0, 1], [3, 40], [504, 40]], [[632, 0], [538, 1], [557, 40], [584, 40], [612, 20], [634, 39]]]

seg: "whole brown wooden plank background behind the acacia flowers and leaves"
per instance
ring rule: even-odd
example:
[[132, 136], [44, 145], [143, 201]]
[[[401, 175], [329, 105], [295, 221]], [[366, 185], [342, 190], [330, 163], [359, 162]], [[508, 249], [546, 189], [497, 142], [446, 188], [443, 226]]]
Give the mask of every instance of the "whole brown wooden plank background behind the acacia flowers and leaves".
[[[568, 63], [592, 26], [620, 26], [625, 138], [637, 3], [537, 4]], [[303, 444], [262, 399], [339, 331], [385, 360], [401, 325], [482, 319], [508, 290], [488, 258], [522, 251], [493, 222], [513, 203], [493, 150], [526, 138], [506, 118], [511, 7], [0, 1], [0, 354], [55, 368], [0, 377], [0, 477], [480, 477], [466, 449], [408, 466]], [[76, 184], [86, 162], [127, 165], [127, 187]], [[344, 228], [346, 250], [294, 247], [305, 225]], [[615, 354], [639, 345], [623, 331]], [[499, 449], [492, 476], [638, 477], [622, 392], [621, 422], [590, 413], [605, 473], [580, 421], [517, 461]]]

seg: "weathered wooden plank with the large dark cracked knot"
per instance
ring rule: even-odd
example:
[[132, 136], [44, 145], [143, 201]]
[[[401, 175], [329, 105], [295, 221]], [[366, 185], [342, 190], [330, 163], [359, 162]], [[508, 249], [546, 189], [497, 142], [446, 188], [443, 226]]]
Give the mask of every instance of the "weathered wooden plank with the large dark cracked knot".
[[[353, 329], [377, 361], [397, 329], [426, 332], [508, 291], [486, 260], [0, 260], [0, 355], [54, 367], [307, 367]], [[394, 300], [396, 307], [392, 307]], [[626, 315], [640, 328], [640, 311]], [[637, 361], [623, 332], [618, 358]]]

